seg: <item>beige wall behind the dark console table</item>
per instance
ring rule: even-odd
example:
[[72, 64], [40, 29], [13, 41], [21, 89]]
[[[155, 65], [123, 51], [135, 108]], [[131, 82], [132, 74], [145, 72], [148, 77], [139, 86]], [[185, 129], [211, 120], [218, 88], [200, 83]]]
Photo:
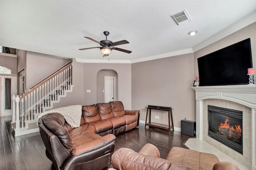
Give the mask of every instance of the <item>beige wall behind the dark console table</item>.
[[[120, 77], [120, 76], [118, 76]], [[140, 110], [140, 120], [146, 119], [146, 106], [173, 108], [174, 127], [180, 120], [195, 121], [194, 54], [178, 55], [132, 64], [132, 109]], [[160, 119], [154, 119], [159, 115]], [[168, 115], [152, 111], [152, 122], [168, 125]]]

